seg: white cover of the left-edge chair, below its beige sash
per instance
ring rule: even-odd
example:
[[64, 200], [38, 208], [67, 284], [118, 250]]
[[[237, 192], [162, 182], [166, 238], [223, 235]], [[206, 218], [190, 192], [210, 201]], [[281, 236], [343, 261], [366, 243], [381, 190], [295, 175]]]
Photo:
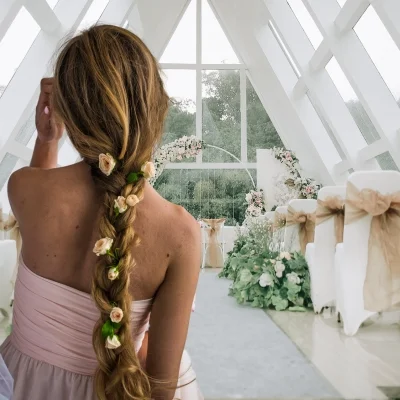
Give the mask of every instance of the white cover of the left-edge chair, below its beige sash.
[[11, 311], [13, 273], [17, 262], [15, 240], [0, 240], [0, 314], [7, 316]]

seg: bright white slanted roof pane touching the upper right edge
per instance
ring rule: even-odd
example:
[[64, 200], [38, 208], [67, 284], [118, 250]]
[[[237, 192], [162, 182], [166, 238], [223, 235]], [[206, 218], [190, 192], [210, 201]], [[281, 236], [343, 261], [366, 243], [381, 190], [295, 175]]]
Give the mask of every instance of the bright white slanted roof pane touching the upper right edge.
[[400, 99], [400, 50], [372, 6], [354, 27], [394, 98]]

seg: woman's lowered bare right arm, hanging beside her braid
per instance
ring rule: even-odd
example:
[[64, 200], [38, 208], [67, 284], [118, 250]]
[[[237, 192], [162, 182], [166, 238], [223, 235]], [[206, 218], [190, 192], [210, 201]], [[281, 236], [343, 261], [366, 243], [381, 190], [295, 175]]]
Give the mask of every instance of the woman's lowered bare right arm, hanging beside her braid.
[[186, 212], [177, 216], [177, 252], [173, 255], [151, 311], [146, 371], [167, 385], [152, 384], [152, 398], [173, 398], [185, 347], [201, 265], [198, 223]]

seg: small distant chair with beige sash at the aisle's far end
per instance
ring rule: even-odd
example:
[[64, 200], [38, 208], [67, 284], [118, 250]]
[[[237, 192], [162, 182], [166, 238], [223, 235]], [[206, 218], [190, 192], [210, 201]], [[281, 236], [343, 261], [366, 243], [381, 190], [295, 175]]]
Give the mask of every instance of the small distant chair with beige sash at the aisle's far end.
[[204, 228], [203, 268], [222, 268], [224, 266], [224, 223], [225, 218], [203, 219]]

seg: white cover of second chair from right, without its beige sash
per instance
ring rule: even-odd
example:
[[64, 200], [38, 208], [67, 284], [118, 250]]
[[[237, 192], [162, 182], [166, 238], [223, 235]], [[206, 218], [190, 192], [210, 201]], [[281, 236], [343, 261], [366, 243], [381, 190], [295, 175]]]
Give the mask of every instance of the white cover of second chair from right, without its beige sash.
[[[345, 186], [326, 186], [318, 193], [319, 201], [337, 197], [344, 202]], [[321, 205], [317, 205], [317, 216]], [[311, 298], [314, 311], [319, 313], [325, 306], [333, 305], [335, 300], [334, 263], [336, 251], [335, 216], [318, 223], [315, 226], [314, 243], [309, 243], [306, 250], [306, 260], [311, 277]]]

